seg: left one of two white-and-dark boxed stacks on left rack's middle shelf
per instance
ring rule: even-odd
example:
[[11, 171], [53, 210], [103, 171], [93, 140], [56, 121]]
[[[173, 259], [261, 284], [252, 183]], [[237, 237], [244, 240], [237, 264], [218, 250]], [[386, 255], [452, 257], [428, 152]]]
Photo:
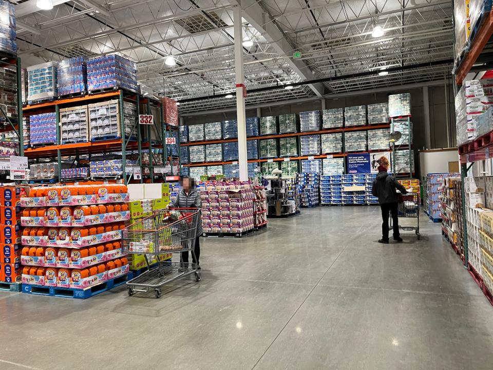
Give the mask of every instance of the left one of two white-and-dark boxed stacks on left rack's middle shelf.
[[60, 109], [61, 143], [89, 141], [87, 105]]

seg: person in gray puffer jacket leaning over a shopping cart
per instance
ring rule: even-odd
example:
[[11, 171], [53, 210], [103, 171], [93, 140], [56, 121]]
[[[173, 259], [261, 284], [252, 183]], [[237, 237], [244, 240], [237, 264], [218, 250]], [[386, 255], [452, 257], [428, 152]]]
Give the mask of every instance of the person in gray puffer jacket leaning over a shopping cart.
[[[200, 193], [195, 188], [195, 181], [192, 177], [183, 176], [180, 180], [181, 190], [178, 192], [175, 200], [171, 202], [168, 208], [201, 208], [202, 201], [200, 200]], [[197, 223], [197, 232], [195, 234], [195, 257], [192, 253], [192, 260], [194, 264], [197, 264], [197, 269], [200, 270], [199, 257], [200, 257], [200, 236], [202, 235], [202, 218], [199, 215]], [[181, 258], [185, 268], [188, 268], [188, 251], [181, 252]]]

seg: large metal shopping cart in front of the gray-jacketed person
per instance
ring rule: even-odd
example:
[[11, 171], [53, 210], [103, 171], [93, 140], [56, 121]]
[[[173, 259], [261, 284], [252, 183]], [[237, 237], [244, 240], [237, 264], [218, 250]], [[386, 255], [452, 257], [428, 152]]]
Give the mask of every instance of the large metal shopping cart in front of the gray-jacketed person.
[[[195, 236], [200, 211], [196, 208], [160, 210], [123, 229], [123, 250], [129, 254], [144, 254], [147, 271], [127, 284], [128, 295], [154, 289], [156, 298], [161, 297], [161, 287], [186, 275], [195, 274], [201, 280], [195, 263], [184, 263], [180, 252], [192, 252], [195, 258]], [[147, 255], [180, 253], [180, 262], [159, 261], [150, 269]], [[159, 258], [158, 258], [159, 260]]]

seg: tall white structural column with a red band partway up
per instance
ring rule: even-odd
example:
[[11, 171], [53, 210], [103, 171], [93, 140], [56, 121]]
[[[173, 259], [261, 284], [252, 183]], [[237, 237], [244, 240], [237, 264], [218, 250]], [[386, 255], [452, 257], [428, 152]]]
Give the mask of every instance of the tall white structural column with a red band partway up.
[[241, 24], [241, 8], [233, 9], [235, 30], [235, 71], [236, 71], [236, 119], [238, 121], [238, 165], [240, 180], [248, 180], [247, 165], [247, 118], [245, 117], [245, 96], [247, 88], [243, 77], [243, 27]]

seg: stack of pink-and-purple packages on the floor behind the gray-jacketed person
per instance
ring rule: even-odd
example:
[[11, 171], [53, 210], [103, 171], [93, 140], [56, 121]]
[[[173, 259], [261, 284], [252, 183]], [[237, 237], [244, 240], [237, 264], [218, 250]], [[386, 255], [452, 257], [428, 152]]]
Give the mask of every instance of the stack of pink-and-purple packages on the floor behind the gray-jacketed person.
[[[251, 181], [199, 183], [205, 234], [242, 234], [254, 226], [254, 191]], [[238, 235], [239, 236], [239, 235]]]

